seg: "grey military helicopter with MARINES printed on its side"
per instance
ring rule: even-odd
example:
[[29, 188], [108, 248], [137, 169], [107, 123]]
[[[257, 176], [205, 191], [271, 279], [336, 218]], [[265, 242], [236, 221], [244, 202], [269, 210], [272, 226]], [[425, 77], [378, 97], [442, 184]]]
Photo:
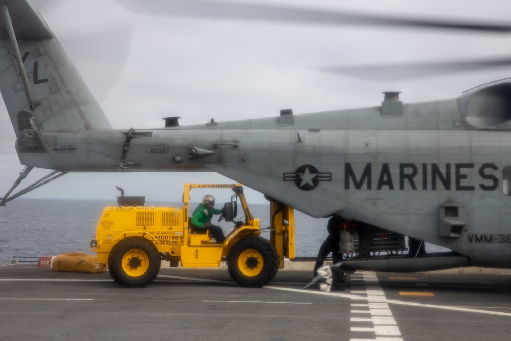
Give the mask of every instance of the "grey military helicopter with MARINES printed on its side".
[[[452, 251], [346, 269], [511, 267], [511, 80], [447, 100], [403, 103], [394, 91], [376, 107], [185, 126], [172, 116], [156, 129], [113, 129], [31, 2], [4, 3], [0, 90], [26, 168], [0, 204], [71, 172], [216, 172], [312, 217], [336, 215]], [[11, 196], [33, 168], [54, 172]]]

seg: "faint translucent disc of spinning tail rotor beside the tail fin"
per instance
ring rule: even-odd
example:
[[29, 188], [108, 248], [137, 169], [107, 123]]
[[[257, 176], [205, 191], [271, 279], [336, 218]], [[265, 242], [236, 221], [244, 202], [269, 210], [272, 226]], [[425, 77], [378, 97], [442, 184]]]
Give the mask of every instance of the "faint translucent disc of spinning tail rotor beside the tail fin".
[[[34, 0], [41, 15], [73, 60], [92, 94], [101, 102], [121, 77], [131, 50], [133, 15], [110, 13], [107, 2], [95, 5], [65, 0]], [[79, 16], [68, 13], [79, 11]], [[120, 12], [125, 12], [120, 13]], [[90, 18], [96, 22], [91, 24]], [[69, 21], [73, 20], [73, 25]]]

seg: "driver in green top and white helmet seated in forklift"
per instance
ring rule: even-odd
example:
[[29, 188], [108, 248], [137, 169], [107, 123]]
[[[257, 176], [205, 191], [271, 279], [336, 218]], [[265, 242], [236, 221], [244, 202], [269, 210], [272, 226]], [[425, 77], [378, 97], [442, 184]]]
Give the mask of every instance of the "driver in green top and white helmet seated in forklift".
[[206, 195], [202, 198], [202, 203], [197, 206], [192, 215], [192, 231], [196, 233], [205, 233], [209, 230], [210, 238], [215, 238], [217, 243], [223, 244], [225, 235], [220, 226], [211, 224], [211, 217], [214, 214], [222, 214], [223, 210], [215, 209], [215, 198], [213, 195]]

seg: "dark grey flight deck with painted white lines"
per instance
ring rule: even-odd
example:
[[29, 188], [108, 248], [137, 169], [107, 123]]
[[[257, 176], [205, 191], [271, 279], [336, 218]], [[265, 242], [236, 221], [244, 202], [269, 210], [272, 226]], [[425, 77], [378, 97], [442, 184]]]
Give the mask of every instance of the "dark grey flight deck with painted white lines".
[[345, 291], [280, 271], [260, 289], [227, 271], [162, 269], [146, 288], [105, 274], [0, 267], [0, 340], [508, 340], [511, 277], [356, 273]]

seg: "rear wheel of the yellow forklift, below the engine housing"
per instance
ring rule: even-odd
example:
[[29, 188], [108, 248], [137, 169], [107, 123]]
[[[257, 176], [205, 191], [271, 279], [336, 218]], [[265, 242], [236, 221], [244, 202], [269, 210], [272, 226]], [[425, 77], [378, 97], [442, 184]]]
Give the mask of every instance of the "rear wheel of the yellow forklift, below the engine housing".
[[158, 276], [161, 257], [154, 244], [141, 237], [128, 237], [108, 255], [110, 276], [126, 288], [141, 288]]

